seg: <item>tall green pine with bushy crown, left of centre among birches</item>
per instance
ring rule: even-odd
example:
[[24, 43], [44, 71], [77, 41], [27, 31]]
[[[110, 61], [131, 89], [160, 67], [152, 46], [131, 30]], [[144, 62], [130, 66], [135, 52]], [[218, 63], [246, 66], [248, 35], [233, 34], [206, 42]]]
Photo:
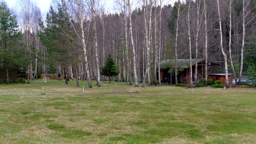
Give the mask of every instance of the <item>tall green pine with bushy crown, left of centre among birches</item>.
[[[39, 38], [48, 52], [49, 60], [47, 62], [52, 68], [56, 68], [60, 64], [65, 65], [65, 67], [67, 64], [73, 64], [77, 87], [79, 87], [76, 70], [78, 60], [73, 43], [75, 34], [72, 32], [70, 16], [66, 13], [65, 5], [59, 3], [56, 11], [50, 7], [46, 15], [46, 27], [41, 20], [39, 20], [39, 26], [42, 28], [42, 32], [38, 34]], [[65, 80], [68, 84], [67, 79]]]

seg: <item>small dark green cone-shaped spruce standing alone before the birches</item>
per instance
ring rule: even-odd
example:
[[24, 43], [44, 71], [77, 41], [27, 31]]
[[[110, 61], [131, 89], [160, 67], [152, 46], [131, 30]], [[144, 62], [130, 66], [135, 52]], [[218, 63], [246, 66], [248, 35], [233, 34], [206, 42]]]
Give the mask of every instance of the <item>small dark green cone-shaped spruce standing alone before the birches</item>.
[[109, 54], [105, 65], [101, 67], [101, 75], [109, 76], [109, 83], [111, 82], [111, 76], [117, 76], [119, 74], [119, 69], [115, 64], [114, 59]]

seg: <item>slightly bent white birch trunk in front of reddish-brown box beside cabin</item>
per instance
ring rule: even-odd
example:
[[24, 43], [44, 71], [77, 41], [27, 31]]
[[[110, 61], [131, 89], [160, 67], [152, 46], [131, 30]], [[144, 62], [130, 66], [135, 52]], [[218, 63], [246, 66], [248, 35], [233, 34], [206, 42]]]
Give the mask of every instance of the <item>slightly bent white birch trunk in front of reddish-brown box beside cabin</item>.
[[218, 15], [219, 15], [219, 23], [220, 23], [220, 49], [221, 52], [224, 56], [224, 61], [225, 61], [225, 75], [226, 75], [226, 88], [229, 88], [229, 82], [228, 82], [228, 68], [227, 68], [227, 56], [226, 53], [224, 52], [223, 49], [223, 36], [222, 36], [222, 28], [221, 28], [221, 19], [220, 19], [220, 4], [219, 0], [217, 0], [217, 5], [218, 5]]

